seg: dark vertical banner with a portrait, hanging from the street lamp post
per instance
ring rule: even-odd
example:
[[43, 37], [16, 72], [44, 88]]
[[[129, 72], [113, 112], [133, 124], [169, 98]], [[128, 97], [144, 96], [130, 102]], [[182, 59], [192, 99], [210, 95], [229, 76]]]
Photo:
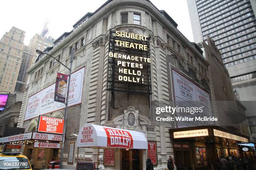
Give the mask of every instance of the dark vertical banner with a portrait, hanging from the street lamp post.
[[68, 75], [57, 73], [55, 92], [54, 92], [54, 101], [65, 103], [66, 94], [67, 94], [67, 79]]

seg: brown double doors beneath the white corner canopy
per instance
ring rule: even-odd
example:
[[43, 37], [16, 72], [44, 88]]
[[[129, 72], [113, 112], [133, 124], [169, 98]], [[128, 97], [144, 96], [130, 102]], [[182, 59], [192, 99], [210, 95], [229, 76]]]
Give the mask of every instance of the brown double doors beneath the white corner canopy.
[[140, 170], [141, 152], [139, 149], [122, 149], [121, 150], [121, 170]]

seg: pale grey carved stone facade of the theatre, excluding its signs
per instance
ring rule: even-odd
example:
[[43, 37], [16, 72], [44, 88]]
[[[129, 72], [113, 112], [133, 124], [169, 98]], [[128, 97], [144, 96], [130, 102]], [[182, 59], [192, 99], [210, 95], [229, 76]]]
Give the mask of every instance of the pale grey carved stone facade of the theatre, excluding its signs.
[[[172, 68], [175, 68], [189, 80], [198, 84], [206, 91], [209, 90], [208, 62], [192, 45], [184, 35], [177, 30], [170, 18], [162, 15], [151, 2], [146, 0], [109, 0], [109, 3], [101, 7], [97, 12], [86, 20], [77, 29], [69, 32], [63, 40], [49, 51], [50, 55], [57, 57], [69, 67], [71, 47], [74, 47], [74, 61], [72, 70], [79, 70], [85, 67], [84, 85], [82, 92], [82, 103], [69, 107], [67, 118], [67, 140], [76, 141], [78, 128], [86, 123], [105, 125], [116, 128], [139, 130], [145, 133], [147, 140], [157, 142], [158, 166], [156, 169], [166, 168], [169, 155], [174, 155], [173, 144], [170, 139], [170, 128], [176, 128], [174, 124], [164, 122], [160, 125], [154, 121], [155, 107], [173, 106], [175, 104], [173, 94]], [[121, 14], [127, 13], [127, 23], [121, 23]], [[133, 15], [141, 16], [140, 25], [133, 24]], [[114, 108], [111, 105], [111, 93], [107, 90], [108, 79], [108, 47], [110, 30], [123, 32], [132, 31], [139, 35], [151, 36], [150, 57], [151, 57], [151, 87], [152, 94], [138, 96], [120, 93], [116, 96]], [[59, 40], [58, 39], [58, 40]], [[38, 117], [24, 121], [28, 97], [53, 84], [56, 81], [56, 73], [68, 74], [68, 70], [60, 64], [49, 67], [52, 58], [48, 55], [41, 57], [28, 70], [28, 84], [24, 93], [23, 105], [21, 108], [18, 126], [30, 128], [36, 125]], [[198, 69], [200, 65], [200, 69]], [[186, 75], [190, 67], [197, 79]], [[43, 69], [42, 69], [43, 68]], [[42, 74], [34, 76], [38, 70]], [[203, 84], [202, 82], [205, 82]], [[58, 112], [63, 113], [63, 110]], [[127, 124], [129, 112], [136, 117], [136, 126]], [[49, 115], [54, 113], [49, 113]], [[32, 125], [30, 125], [32, 124]], [[65, 147], [66, 148], [66, 147]], [[64, 152], [64, 159], [67, 159], [67, 148]], [[77, 150], [75, 149], [75, 152]], [[97, 150], [79, 149], [79, 160], [97, 160]], [[121, 169], [121, 150], [117, 150], [115, 167], [108, 169]], [[146, 169], [146, 151], [141, 151], [142, 168]], [[77, 153], [75, 153], [77, 159]], [[74, 161], [74, 165], [75, 165]], [[100, 149], [100, 167], [103, 167], [103, 150]]]

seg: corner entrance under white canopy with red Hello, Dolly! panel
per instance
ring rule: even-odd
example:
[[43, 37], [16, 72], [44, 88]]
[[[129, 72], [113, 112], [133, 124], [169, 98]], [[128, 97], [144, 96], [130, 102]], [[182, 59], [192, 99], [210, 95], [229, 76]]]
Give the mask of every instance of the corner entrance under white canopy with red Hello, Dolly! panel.
[[[122, 170], [144, 169], [148, 145], [151, 144], [148, 144], [143, 132], [93, 124], [84, 125], [77, 137], [78, 148], [96, 148], [98, 152], [104, 149], [105, 168]], [[99, 164], [99, 160], [94, 162]]]

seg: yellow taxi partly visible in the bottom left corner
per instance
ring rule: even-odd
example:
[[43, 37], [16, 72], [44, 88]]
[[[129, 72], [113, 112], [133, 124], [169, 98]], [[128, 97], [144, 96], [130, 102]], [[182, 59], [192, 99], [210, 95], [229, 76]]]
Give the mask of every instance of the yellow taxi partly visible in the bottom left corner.
[[32, 167], [25, 155], [1, 152], [0, 170], [32, 170]]

